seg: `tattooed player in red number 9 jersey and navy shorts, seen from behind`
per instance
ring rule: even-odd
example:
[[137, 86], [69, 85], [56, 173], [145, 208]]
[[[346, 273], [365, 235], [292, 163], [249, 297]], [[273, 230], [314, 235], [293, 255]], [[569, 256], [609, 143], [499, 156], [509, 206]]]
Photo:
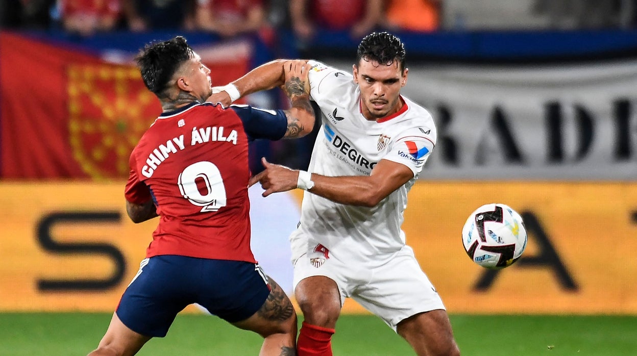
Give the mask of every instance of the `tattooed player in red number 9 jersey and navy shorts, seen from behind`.
[[[278, 73], [292, 103], [284, 111], [206, 103], [210, 69], [181, 36], [146, 46], [137, 62], [163, 112], [131, 153], [126, 210], [159, 224], [90, 355], [134, 355], [192, 303], [260, 334], [259, 355], [295, 355], [294, 307], [250, 250], [248, 141], [311, 131], [310, 67], [289, 61]], [[236, 96], [233, 85], [219, 90]]]

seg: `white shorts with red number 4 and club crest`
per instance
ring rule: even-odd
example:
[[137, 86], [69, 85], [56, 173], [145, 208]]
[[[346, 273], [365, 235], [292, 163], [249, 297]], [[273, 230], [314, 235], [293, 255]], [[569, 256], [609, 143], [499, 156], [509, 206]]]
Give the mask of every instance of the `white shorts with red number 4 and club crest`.
[[[340, 251], [342, 252], [342, 251]], [[351, 297], [396, 331], [402, 320], [445, 306], [427, 275], [420, 269], [413, 250], [403, 246], [386, 260], [361, 263], [359, 257], [312, 246], [294, 264], [294, 288], [310, 276], [326, 276], [336, 281], [341, 306]], [[326, 258], [328, 257], [328, 258]], [[352, 263], [353, 260], [359, 262]]]

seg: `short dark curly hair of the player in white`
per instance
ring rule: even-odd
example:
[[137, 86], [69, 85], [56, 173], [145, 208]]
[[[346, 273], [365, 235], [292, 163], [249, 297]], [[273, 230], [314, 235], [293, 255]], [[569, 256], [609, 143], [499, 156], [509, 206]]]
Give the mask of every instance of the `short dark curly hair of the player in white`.
[[398, 62], [401, 71], [405, 68], [405, 52], [403, 42], [389, 32], [372, 32], [362, 39], [356, 52], [356, 65], [364, 61], [375, 61], [389, 64]]

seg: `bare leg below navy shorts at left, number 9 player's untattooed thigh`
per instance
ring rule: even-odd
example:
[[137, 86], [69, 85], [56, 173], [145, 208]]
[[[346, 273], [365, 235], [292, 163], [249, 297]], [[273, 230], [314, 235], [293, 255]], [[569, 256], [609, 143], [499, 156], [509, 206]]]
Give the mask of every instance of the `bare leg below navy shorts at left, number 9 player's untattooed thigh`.
[[96, 352], [92, 354], [134, 355], [148, 340], [150, 340], [150, 336], [132, 331], [122, 323], [117, 314], [113, 313], [106, 334], [99, 341]]

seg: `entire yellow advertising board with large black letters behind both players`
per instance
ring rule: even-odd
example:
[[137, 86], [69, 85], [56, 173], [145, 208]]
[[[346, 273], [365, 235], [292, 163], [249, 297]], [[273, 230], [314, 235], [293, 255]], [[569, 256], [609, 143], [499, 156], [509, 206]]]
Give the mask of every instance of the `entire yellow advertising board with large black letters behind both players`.
[[[0, 183], [0, 311], [113, 311], [156, 225], [129, 221], [123, 189]], [[529, 232], [522, 258], [497, 272], [462, 248], [462, 225], [485, 203], [508, 204]], [[636, 183], [420, 181], [403, 229], [450, 313], [637, 314]]]

